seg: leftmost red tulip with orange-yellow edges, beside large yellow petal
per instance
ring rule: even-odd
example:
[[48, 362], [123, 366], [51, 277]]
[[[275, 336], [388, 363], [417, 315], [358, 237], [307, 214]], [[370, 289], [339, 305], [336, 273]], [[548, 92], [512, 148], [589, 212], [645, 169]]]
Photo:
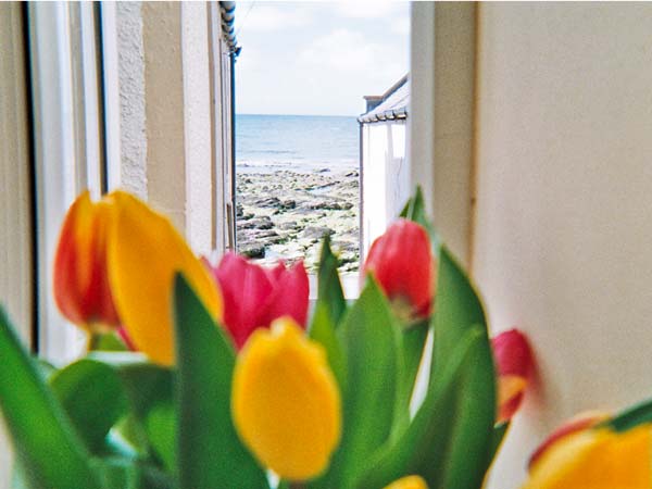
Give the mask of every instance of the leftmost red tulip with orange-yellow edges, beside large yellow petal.
[[112, 209], [82, 193], [68, 210], [54, 256], [54, 300], [72, 323], [92, 333], [120, 326], [109, 274], [106, 244]]

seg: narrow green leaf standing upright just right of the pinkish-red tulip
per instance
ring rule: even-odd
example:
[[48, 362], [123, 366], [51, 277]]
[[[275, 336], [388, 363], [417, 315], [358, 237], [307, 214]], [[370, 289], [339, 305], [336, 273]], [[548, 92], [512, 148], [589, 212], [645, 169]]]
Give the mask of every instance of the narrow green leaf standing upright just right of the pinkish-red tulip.
[[337, 265], [338, 260], [330, 250], [330, 239], [326, 237], [319, 259], [317, 303], [309, 336], [326, 350], [330, 368], [338, 380], [340, 390], [343, 390], [347, 378], [346, 364], [342, 346], [337, 338], [336, 329], [347, 311], [347, 301], [344, 300]]

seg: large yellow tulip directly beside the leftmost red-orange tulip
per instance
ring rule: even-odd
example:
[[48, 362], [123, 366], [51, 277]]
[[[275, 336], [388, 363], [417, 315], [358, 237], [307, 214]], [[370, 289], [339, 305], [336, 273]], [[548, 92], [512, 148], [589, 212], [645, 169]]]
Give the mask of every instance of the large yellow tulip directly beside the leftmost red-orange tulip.
[[153, 362], [171, 365], [175, 273], [184, 274], [215, 318], [222, 316], [222, 298], [166, 217], [123, 191], [111, 193], [109, 200], [115, 209], [108, 247], [113, 300], [136, 348]]

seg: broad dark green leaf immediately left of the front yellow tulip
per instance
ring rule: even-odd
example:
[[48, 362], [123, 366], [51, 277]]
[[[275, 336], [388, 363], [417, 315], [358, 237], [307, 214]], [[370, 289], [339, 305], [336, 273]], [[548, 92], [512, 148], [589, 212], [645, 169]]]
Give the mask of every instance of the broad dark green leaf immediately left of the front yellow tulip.
[[230, 415], [235, 352], [181, 275], [175, 277], [178, 464], [183, 488], [265, 488]]

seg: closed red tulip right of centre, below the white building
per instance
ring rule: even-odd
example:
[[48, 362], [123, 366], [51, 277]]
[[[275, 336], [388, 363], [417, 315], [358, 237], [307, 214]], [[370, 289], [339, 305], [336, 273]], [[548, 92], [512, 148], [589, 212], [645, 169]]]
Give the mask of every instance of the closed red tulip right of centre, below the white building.
[[364, 264], [405, 322], [430, 315], [435, 294], [435, 259], [426, 229], [398, 220], [377, 238]]

